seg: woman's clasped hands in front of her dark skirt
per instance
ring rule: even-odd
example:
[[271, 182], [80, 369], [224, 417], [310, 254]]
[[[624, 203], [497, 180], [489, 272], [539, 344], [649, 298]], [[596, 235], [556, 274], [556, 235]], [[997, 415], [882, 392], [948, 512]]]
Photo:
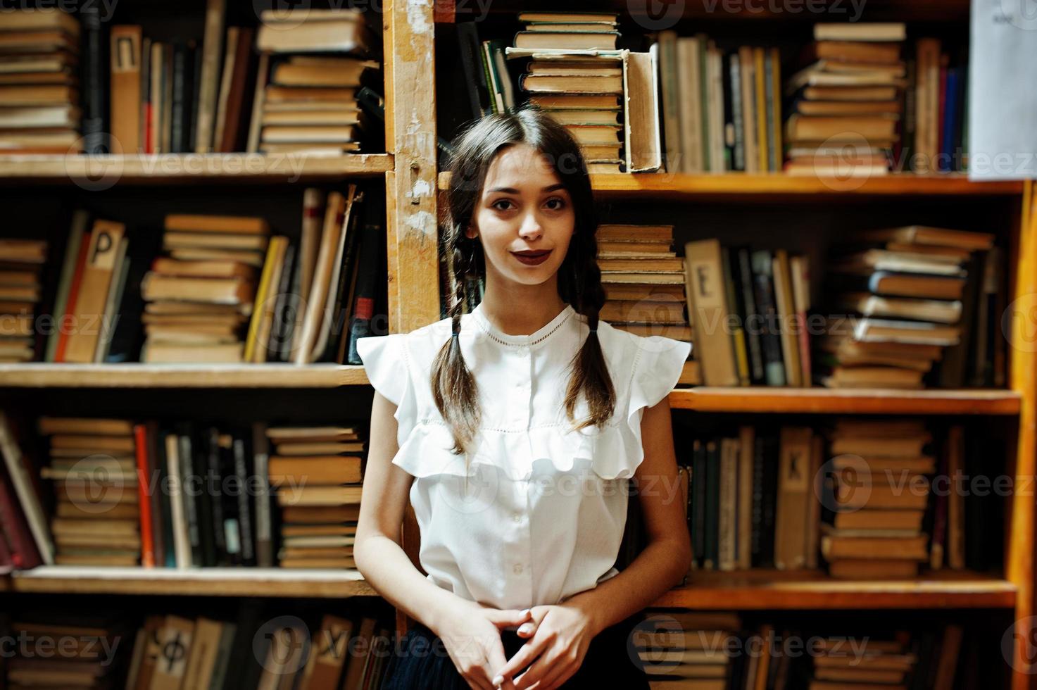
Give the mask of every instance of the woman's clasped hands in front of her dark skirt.
[[[505, 659], [501, 631], [515, 626], [526, 643], [511, 659]], [[437, 634], [472, 688], [554, 690], [580, 668], [598, 632], [593, 616], [571, 604], [520, 611], [469, 602], [440, 626]]]

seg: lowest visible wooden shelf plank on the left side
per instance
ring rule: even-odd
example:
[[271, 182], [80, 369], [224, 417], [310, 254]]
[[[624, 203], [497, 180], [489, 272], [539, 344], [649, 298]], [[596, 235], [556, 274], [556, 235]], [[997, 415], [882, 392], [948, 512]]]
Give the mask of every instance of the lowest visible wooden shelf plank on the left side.
[[215, 597], [376, 597], [356, 570], [40, 565], [16, 571], [7, 591]]

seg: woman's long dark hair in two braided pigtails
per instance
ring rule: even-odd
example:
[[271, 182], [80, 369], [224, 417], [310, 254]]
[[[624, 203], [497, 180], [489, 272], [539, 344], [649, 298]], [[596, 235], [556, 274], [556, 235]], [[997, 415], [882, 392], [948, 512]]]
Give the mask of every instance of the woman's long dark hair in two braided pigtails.
[[[615, 410], [615, 389], [597, 338], [598, 311], [605, 304], [601, 271], [597, 267], [597, 214], [590, 177], [580, 145], [568, 131], [535, 106], [510, 114], [482, 117], [469, 126], [454, 141], [454, 155], [447, 169], [450, 187], [446, 192], [448, 212], [443, 250], [453, 255], [456, 292], [449, 315], [453, 332], [460, 332], [461, 306], [467, 298], [466, 277], [485, 278], [485, 256], [478, 239], [465, 230], [482, 192], [491, 163], [503, 149], [525, 143], [538, 150], [552, 165], [572, 200], [576, 227], [568, 251], [558, 269], [558, 296], [587, 320], [590, 333], [572, 358], [565, 412], [570, 420], [581, 392], [587, 398], [589, 416], [574, 427], [600, 426]], [[436, 356], [431, 372], [436, 407], [451, 427], [454, 453], [468, 452], [479, 427], [480, 410], [475, 378], [461, 357], [458, 338], [451, 337]]]

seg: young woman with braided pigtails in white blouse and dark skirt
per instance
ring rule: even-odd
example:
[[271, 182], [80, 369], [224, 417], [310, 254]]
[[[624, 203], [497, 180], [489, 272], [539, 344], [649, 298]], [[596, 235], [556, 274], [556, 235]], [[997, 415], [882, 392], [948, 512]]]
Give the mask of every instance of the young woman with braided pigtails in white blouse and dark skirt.
[[[691, 346], [598, 320], [593, 194], [563, 127], [523, 109], [455, 146], [450, 316], [357, 343], [375, 395], [355, 557], [418, 622], [382, 687], [648, 688], [627, 638], [690, 565], [667, 393]], [[634, 477], [649, 544], [618, 572]], [[399, 544], [408, 497], [427, 577]]]

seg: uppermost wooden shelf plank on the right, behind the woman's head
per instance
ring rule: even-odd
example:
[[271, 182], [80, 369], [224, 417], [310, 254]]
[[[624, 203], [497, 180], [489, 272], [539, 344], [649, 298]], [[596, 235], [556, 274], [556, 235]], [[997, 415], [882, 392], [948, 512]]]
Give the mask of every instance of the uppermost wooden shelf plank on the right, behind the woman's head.
[[[770, 199], [817, 196], [1012, 196], [1022, 194], [1018, 181], [971, 182], [960, 173], [916, 175], [892, 173], [869, 178], [839, 180], [784, 173], [684, 174], [647, 172], [601, 173], [590, 176], [594, 191], [604, 198], [681, 199], [686, 197]], [[441, 172], [439, 188], [450, 184]]]

